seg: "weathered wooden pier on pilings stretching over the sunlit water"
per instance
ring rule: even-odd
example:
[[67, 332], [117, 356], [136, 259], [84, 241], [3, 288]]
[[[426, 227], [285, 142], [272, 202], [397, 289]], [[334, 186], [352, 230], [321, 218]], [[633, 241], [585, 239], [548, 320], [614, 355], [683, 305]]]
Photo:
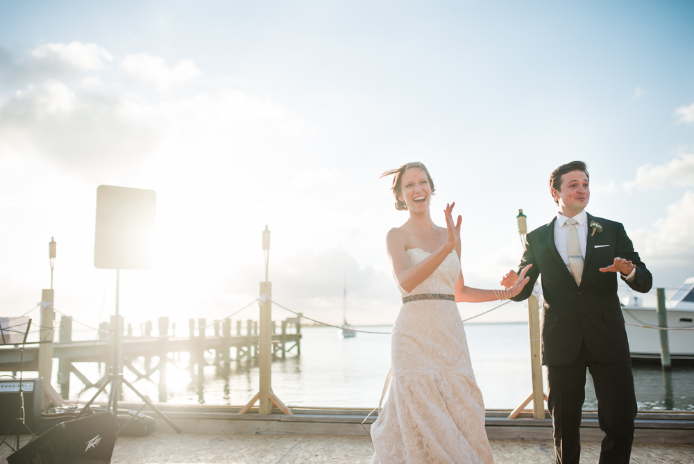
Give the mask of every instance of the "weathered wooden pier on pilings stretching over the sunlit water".
[[[113, 318], [112, 318], [113, 319]], [[103, 363], [110, 365], [113, 359], [110, 342], [110, 327], [115, 321], [102, 322], [97, 340], [72, 340], [72, 317], [63, 316], [58, 326], [59, 340], [52, 343], [53, 358], [58, 358], [58, 386], [60, 395], [67, 399], [70, 390], [71, 374], [74, 374], [85, 386], [85, 389], [101, 386], [106, 379], [103, 376], [97, 381], [90, 381], [74, 363]], [[253, 365], [258, 358], [258, 322], [237, 320], [235, 333], [232, 334], [232, 321], [229, 319], [207, 324], [204, 318], [191, 319], [188, 323], [188, 335], [176, 336], [175, 325], [170, 326], [169, 317], [160, 317], [158, 336], [152, 335], [152, 323], [143, 324], [141, 335], [133, 335], [133, 326], [128, 324], [127, 332], [121, 318], [121, 355], [123, 367], [139, 379], [150, 379], [158, 372], [159, 401], [167, 401], [167, 375], [165, 367], [180, 354], [188, 354], [187, 370], [193, 379], [203, 380], [203, 368], [207, 365], [229, 367], [230, 363]], [[272, 354], [273, 358], [285, 358], [287, 354], [301, 355], [301, 315], [283, 321], [273, 322]], [[208, 332], [213, 333], [208, 334]], [[169, 333], [171, 335], [169, 335]], [[39, 370], [39, 345], [26, 345], [24, 348], [24, 370]], [[18, 372], [20, 370], [20, 348], [0, 348], [0, 372]], [[144, 358], [144, 372], [135, 367], [136, 361]], [[101, 369], [100, 372], [105, 372]]]

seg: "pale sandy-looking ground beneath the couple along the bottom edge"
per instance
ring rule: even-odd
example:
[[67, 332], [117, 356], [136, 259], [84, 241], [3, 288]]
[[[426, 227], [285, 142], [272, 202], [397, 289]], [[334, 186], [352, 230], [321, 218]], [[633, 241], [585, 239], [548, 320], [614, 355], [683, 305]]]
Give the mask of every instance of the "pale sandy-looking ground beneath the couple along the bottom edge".
[[[25, 438], [25, 441], [28, 439]], [[550, 440], [491, 440], [496, 464], [554, 464]], [[0, 448], [0, 462], [9, 454]], [[369, 464], [373, 454], [366, 436], [229, 435], [156, 431], [142, 438], [119, 437], [112, 464]], [[596, 463], [599, 442], [582, 444], [582, 462]], [[638, 443], [632, 462], [641, 464], [694, 463], [694, 445]]]

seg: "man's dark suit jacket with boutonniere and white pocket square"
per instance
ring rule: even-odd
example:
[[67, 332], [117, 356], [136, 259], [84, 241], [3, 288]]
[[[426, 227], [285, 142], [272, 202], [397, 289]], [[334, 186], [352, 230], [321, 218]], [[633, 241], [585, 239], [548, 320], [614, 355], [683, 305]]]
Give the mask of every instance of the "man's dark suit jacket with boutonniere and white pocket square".
[[530, 297], [537, 277], [542, 274], [542, 364], [572, 363], [582, 340], [599, 363], [629, 363], [629, 342], [617, 297], [618, 280], [614, 272], [600, 272], [600, 267], [613, 264], [616, 256], [632, 261], [636, 265], [636, 279], [625, 282], [642, 293], [651, 288], [650, 272], [638, 258], [622, 224], [588, 215], [589, 224], [598, 222], [602, 232], [593, 235], [593, 229], [588, 227], [583, 276], [581, 285], [577, 285], [555, 246], [556, 220], [555, 217], [527, 234], [520, 269], [532, 264], [526, 274], [530, 281], [512, 298], [523, 301]]

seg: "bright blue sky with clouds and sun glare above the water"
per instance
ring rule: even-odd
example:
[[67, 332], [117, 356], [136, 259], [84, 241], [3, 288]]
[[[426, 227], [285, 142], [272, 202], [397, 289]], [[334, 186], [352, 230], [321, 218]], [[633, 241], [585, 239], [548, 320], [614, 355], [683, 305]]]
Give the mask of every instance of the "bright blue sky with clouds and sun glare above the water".
[[[350, 322], [390, 324], [384, 238], [407, 213], [379, 176], [414, 160], [434, 222], [450, 201], [463, 217], [468, 285], [518, 265], [518, 209], [548, 223], [549, 174], [578, 159], [589, 213], [677, 287], [694, 276], [693, 19], [684, 1], [0, 1], [0, 313], [40, 301], [55, 237], [56, 309], [108, 320], [96, 188], [119, 185], [157, 194], [155, 267], [121, 272], [134, 326], [251, 303], [265, 225], [278, 303], [339, 323], [346, 283]], [[477, 319], [522, 320], [515, 303]]]

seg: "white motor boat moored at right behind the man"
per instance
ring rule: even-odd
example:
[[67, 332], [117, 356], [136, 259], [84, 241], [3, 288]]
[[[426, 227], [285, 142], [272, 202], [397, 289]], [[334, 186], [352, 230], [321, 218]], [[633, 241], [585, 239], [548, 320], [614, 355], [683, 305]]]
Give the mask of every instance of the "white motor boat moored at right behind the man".
[[[694, 277], [687, 279], [666, 304], [668, 341], [672, 360], [694, 361]], [[660, 331], [637, 326], [659, 326], [657, 308], [643, 306], [640, 297], [629, 297], [622, 306], [632, 358], [659, 359]], [[633, 324], [633, 325], [629, 325]]]

